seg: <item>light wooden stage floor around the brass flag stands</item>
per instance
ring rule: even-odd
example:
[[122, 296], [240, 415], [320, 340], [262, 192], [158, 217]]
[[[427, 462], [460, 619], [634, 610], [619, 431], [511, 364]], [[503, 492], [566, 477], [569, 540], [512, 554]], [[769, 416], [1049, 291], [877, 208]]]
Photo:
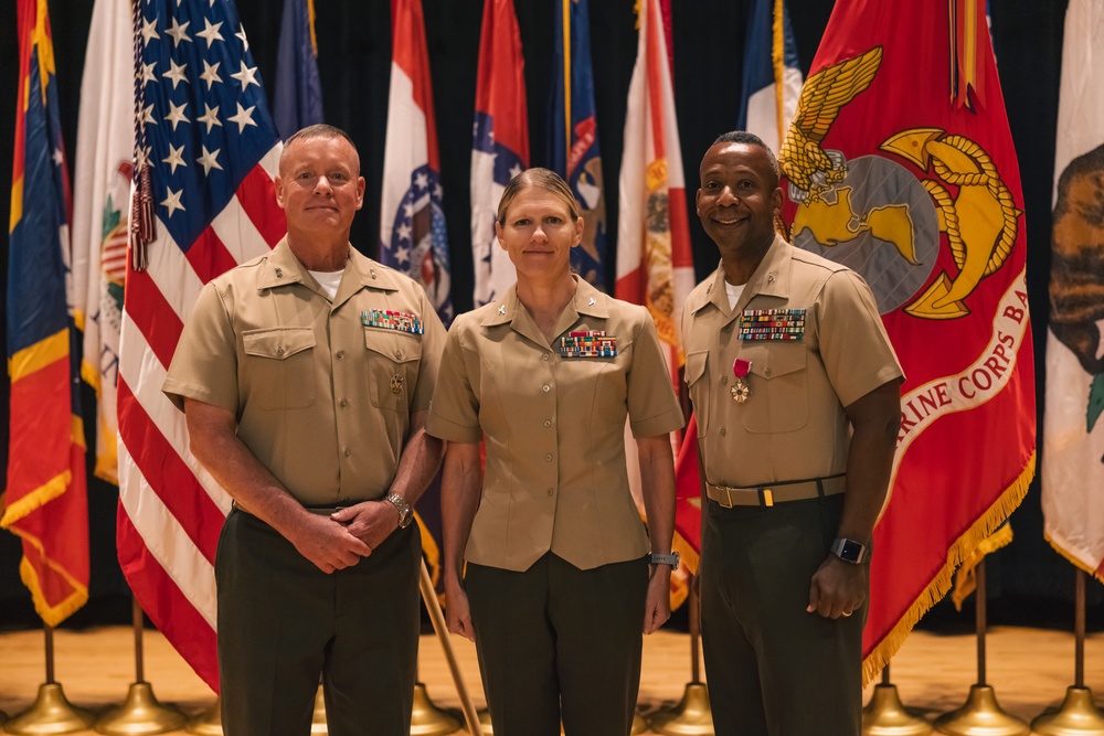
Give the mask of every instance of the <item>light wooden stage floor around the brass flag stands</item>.
[[[145, 636], [146, 680], [162, 702], [189, 714], [206, 711], [211, 691], [156, 631]], [[468, 691], [482, 707], [475, 647], [452, 638]], [[986, 637], [987, 680], [1008, 712], [1030, 722], [1058, 705], [1073, 684], [1073, 634], [1041, 629], [994, 627]], [[55, 634], [56, 680], [70, 702], [99, 711], [119, 704], [135, 679], [134, 637], [126, 627]], [[973, 636], [914, 632], [893, 659], [892, 676], [906, 706], [928, 719], [963, 704], [977, 680], [977, 644]], [[420, 679], [443, 707], [459, 707], [440, 642], [422, 637]], [[684, 633], [660, 631], [645, 638], [640, 711], [651, 713], [676, 703], [690, 680], [690, 644]], [[9, 716], [29, 707], [44, 680], [41, 631], [0, 633], [0, 711]], [[1085, 685], [1104, 708], [1104, 633], [1085, 642]], [[868, 690], [869, 695], [869, 690]], [[79, 732], [93, 734], [94, 732]], [[182, 732], [181, 732], [182, 733]], [[647, 732], [650, 734], [651, 732]]]

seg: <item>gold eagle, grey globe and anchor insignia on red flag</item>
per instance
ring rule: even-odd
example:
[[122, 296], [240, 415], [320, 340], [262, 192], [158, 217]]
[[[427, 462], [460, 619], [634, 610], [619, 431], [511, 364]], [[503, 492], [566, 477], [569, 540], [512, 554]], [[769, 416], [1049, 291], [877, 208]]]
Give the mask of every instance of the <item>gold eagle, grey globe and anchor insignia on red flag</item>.
[[[809, 77], [778, 157], [798, 203], [794, 245], [848, 266], [870, 285], [878, 311], [920, 319], [969, 313], [966, 300], [999, 269], [1016, 242], [1019, 216], [988, 153], [973, 140], [938, 128], [910, 128], [879, 146], [884, 156], [847, 160], [825, 150], [840, 109], [874, 81], [882, 47], [843, 60]], [[940, 274], [927, 288], [945, 233], [957, 275]]]

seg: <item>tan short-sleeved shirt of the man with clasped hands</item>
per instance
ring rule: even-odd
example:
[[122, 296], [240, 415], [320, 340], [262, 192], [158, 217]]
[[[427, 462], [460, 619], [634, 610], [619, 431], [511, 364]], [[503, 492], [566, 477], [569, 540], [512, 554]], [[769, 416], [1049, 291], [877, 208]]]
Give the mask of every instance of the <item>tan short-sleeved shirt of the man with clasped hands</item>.
[[[381, 319], [385, 310], [421, 320], [424, 333]], [[444, 343], [414, 281], [350, 246], [331, 301], [284, 239], [203, 287], [162, 391], [178, 407], [187, 396], [233, 412], [291, 495], [338, 505], [391, 487]]]

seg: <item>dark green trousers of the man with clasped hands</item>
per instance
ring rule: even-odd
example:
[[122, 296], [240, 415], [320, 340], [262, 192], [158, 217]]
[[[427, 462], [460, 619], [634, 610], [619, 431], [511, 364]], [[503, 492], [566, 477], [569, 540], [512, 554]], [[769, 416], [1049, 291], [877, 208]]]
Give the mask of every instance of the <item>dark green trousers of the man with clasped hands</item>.
[[219, 540], [226, 736], [306, 736], [319, 676], [330, 736], [406, 736], [417, 665], [417, 525], [331, 575], [240, 510]]

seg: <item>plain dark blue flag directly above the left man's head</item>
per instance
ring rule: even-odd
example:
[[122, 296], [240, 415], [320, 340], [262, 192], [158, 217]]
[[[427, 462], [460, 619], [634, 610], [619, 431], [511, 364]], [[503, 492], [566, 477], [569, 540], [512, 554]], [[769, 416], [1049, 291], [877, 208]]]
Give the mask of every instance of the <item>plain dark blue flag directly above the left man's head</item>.
[[315, 0], [284, 0], [276, 60], [273, 121], [280, 137], [322, 121], [322, 83], [318, 78]]

